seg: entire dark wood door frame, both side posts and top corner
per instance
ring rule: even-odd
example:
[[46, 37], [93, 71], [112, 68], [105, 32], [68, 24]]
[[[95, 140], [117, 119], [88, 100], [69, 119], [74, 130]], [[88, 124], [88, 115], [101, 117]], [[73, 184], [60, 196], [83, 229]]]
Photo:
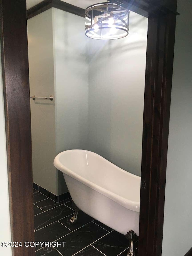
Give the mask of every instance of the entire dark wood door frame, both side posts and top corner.
[[[113, 0], [149, 18], [139, 256], [161, 256], [176, 0]], [[34, 241], [26, 0], [0, 0], [0, 37], [12, 241]], [[31, 247], [14, 256], [35, 256]]]

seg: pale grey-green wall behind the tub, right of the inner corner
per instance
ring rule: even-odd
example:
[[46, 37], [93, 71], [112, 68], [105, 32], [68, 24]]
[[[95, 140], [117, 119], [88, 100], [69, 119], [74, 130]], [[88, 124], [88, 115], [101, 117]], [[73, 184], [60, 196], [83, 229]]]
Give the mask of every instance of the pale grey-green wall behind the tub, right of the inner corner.
[[89, 39], [89, 150], [140, 176], [148, 19], [122, 39]]

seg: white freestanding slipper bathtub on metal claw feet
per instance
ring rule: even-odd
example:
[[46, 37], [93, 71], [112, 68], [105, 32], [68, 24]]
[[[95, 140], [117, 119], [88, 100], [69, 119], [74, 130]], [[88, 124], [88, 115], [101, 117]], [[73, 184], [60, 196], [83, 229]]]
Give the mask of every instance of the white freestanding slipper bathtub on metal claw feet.
[[140, 177], [98, 154], [67, 150], [55, 157], [76, 206], [112, 229], [139, 235]]

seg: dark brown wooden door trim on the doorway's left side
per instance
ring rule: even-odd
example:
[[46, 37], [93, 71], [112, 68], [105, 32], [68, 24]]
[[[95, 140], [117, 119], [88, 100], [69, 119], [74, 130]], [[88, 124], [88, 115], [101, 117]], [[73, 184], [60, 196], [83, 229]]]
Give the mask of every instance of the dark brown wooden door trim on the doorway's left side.
[[34, 241], [26, 1], [0, 1], [0, 37], [11, 240], [22, 242], [12, 255], [33, 256], [34, 248], [24, 246]]

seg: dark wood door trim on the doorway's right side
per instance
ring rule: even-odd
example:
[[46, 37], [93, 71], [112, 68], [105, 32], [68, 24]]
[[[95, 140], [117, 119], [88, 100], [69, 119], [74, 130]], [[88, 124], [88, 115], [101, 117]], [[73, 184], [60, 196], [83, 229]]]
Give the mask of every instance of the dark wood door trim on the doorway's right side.
[[[114, 0], [130, 6], [130, 0]], [[132, 1], [142, 14], [144, 2]], [[171, 1], [169, 1], [170, 4]], [[155, 3], [155, 5], [154, 5]], [[176, 28], [176, 6], [145, 6], [148, 17], [146, 81], [143, 114], [139, 256], [161, 256], [169, 135], [171, 86]], [[174, 5], [175, 4], [175, 5]], [[131, 8], [129, 8], [131, 10]], [[143, 8], [143, 7], [142, 7]]]

